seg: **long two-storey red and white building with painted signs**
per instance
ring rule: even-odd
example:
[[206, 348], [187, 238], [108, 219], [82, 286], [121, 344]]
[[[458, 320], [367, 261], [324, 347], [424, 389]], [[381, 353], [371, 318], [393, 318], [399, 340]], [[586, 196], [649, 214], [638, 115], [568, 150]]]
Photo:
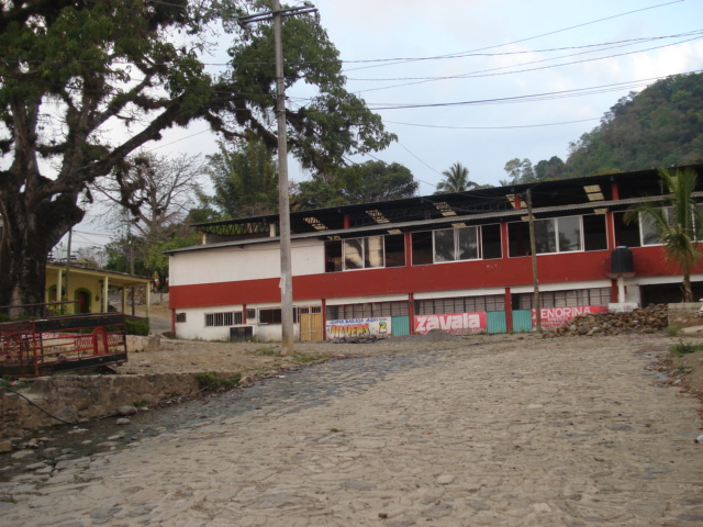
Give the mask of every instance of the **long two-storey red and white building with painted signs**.
[[[680, 301], [650, 223], [624, 220], [662, 192], [645, 170], [292, 212], [297, 338], [532, 330], [528, 197], [545, 327], [611, 303]], [[176, 335], [280, 339], [278, 216], [196, 227], [202, 245], [169, 253]], [[703, 266], [691, 278], [703, 293]]]

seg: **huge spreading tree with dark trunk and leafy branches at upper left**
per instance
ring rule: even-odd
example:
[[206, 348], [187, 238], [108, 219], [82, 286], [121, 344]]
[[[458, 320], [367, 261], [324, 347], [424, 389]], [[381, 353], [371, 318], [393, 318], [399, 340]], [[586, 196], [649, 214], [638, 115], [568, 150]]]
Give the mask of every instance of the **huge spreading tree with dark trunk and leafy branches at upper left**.
[[[254, 133], [276, 145], [271, 30], [257, 24], [245, 41], [235, 23], [260, 3], [2, 2], [1, 305], [43, 301], [47, 254], [83, 217], [89, 186], [164, 130], [204, 119], [226, 139]], [[215, 19], [234, 44], [230, 67], [213, 78], [201, 53]], [[283, 41], [287, 85], [319, 88], [286, 114], [290, 149], [303, 165], [333, 166], [393, 139], [345, 91], [337, 51], [312, 18], [287, 18]]]

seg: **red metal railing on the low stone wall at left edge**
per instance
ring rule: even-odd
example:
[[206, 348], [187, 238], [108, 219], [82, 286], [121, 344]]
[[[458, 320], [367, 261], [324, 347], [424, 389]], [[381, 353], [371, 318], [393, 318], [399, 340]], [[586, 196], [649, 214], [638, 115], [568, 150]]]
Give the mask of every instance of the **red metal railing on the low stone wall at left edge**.
[[0, 324], [0, 375], [37, 377], [126, 362], [122, 314], [57, 316]]

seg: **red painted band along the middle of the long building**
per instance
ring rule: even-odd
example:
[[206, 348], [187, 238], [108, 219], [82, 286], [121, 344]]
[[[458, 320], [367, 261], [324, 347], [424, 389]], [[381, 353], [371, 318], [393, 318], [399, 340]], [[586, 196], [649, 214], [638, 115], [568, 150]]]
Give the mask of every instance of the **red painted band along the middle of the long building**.
[[[671, 274], [660, 247], [634, 249], [638, 276]], [[570, 253], [537, 258], [539, 283], [603, 280], [611, 270], [611, 253]], [[644, 270], [647, 270], [645, 273]], [[170, 307], [205, 307], [280, 302], [279, 278], [170, 288]], [[473, 260], [428, 266], [328, 272], [293, 278], [297, 301], [406, 294], [456, 289], [532, 285], [529, 257]]]

